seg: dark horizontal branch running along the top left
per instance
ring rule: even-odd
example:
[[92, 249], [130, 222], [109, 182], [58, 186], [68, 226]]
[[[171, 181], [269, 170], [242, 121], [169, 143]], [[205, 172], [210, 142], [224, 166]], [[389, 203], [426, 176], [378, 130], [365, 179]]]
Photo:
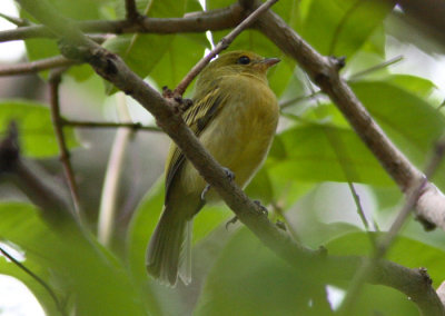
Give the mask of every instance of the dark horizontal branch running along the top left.
[[[117, 21], [82, 21], [76, 22], [76, 28], [87, 33], [187, 33], [217, 31], [237, 26], [244, 18], [244, 10], [239, 4], [206, 12], [188, 13], [184, 18], [148, 18], [138, 20]], [[70, 22], [72, 24], [72, 22]], [[24, 40], [31, 38], [55, 38], [55, 33], [44, 26], [21, 27], [0, 31], [0, 42]]]

